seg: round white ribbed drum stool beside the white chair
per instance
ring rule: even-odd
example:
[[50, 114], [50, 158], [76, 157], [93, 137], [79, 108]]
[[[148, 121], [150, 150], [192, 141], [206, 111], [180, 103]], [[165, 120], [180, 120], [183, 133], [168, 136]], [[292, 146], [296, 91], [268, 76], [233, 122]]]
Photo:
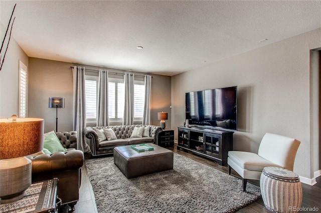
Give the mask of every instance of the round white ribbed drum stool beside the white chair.
[[279, 167], [264, 167], [260, 188], [267, 209], [273, 212], [298, 212], [302, 203], [302, 186], [293, 171]]

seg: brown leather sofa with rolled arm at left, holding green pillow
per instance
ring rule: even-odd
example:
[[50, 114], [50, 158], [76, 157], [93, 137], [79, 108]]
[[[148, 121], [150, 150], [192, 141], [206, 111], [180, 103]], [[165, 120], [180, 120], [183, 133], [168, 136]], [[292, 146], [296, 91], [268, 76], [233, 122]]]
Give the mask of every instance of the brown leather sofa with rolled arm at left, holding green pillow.
[[56, 132], [56, 134], [62, 145], [68, 150], [31, 156], [32, 182], [57, 177], [59, 179], [58, 197], [62, 199], [62, 205], [69, 204], [69, 211], [73, 211], [75, 210], [74, 205], [79, 200], [84, 153], [76, 150], [77, 132]]

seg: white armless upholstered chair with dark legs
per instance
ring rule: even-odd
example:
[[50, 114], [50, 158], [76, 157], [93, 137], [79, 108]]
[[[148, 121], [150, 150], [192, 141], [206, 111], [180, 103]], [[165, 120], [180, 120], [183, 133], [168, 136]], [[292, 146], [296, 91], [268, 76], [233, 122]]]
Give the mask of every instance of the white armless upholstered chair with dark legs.
[[229, 151], [228, 172], [233, 168], [242, 177], [243, 191], [248, 179], [260, 179], [265, 166], [293, 170], [296, 151], [300, 141], [290, 137], [266, 133], [260, 143], [258, 154], [246, 151]]

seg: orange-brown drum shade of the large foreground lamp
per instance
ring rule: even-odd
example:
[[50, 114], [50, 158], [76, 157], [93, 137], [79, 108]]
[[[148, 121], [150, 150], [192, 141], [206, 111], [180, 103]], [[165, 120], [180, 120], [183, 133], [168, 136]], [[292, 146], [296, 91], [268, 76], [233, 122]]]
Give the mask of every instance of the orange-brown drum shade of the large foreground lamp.
[[44, 119], [0, 118], [0, 159], [26, 156], [43, 149]]

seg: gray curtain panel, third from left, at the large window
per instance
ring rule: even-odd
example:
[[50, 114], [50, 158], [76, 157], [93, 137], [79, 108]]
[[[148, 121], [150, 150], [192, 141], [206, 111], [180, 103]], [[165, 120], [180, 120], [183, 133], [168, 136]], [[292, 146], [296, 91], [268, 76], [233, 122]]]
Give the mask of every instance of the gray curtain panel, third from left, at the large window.
[[125, 104], [124, 115], [122, 119], [123, 125], [134, 124], [134, 74], [124, 73], [125, 84]]

